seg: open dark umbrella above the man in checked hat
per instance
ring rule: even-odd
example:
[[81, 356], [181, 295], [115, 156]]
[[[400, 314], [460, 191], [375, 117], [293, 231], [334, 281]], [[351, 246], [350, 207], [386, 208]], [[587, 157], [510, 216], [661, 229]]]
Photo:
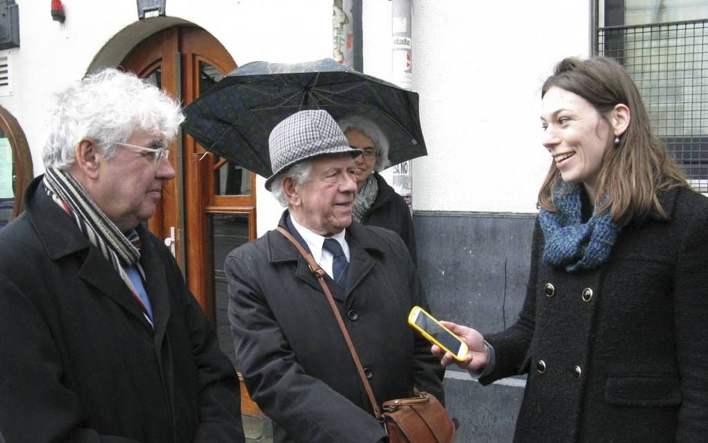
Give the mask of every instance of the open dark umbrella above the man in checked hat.
[[185, 108], [183, 128], [207, 150], [268, 177], [270, 131], [303, 109], [374, 120], [389, 138], [391, 164], [427, 154], [418, 94], [332, 59], [234, 69]]

